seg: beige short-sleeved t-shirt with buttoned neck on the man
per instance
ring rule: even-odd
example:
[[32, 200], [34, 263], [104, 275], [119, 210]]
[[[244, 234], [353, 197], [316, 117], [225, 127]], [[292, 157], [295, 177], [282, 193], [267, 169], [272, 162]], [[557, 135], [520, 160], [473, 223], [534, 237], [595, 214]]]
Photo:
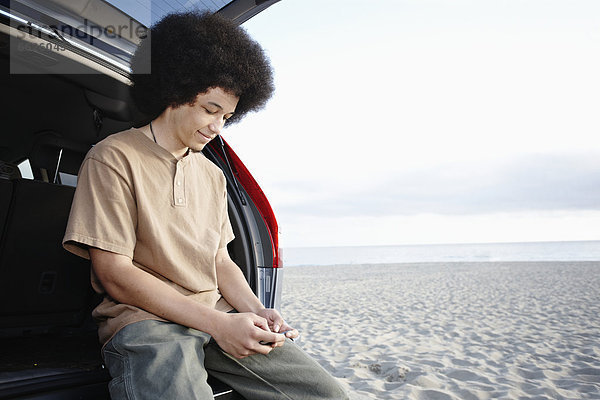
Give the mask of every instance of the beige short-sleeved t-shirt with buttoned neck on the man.
[[[233, 240], [223, 172], [201, 152], [177, 160], [137, 129], [111, 135], [87, 154], [63, 239], [89, 259], [88, 247], [123, 254], [192, 299], [221, 311], [217, 250]], [[102, 343], [124, 326], [162, 320], [106, 294], [93, 311]]]

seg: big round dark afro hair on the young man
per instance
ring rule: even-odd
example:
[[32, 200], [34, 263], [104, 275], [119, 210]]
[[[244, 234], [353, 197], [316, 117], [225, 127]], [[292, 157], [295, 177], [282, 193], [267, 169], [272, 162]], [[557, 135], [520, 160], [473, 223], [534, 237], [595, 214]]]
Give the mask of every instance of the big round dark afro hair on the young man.
[[[150, 73], [144, 73], [148, 66]], [[229, 124], [263, 108], [274, 90], [260, 45], [232, 21], [206, 12], [165, 16], [142, 40], [131, 67], [133, 99], [152, 118], [220, 87], [239, 97]]]

